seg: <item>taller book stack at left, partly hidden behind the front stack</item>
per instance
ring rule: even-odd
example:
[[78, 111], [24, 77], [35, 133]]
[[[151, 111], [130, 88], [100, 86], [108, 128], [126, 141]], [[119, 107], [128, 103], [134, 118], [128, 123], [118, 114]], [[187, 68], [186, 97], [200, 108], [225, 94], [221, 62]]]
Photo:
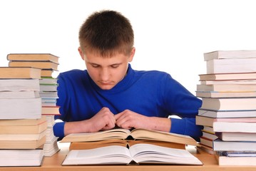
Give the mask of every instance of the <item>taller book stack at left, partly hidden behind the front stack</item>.
[[58, 56], [51, 53], [10, 53], [7, 55], [10, 67], [36, 67], [41, 69], [39, 80], [41, 97], [41, 114], [46, 115], [48, 129], [46, 132], [46, 143], [43, 147], [45, 156], [51, 156], [58, 152], [58, 138], [53, 135], [54, 116], [60, 115], [56, 105], [57, 79], [53, 78], [54, 71], [58, 71]]

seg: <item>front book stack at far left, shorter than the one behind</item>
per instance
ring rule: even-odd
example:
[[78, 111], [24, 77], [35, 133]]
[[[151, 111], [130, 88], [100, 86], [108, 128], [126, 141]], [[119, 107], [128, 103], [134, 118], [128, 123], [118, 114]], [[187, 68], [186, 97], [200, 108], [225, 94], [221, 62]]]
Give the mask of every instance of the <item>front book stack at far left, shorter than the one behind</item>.
[[39, 68], [0, 67], [0, 166], [41, 165], [47, 123], [39, 78]]

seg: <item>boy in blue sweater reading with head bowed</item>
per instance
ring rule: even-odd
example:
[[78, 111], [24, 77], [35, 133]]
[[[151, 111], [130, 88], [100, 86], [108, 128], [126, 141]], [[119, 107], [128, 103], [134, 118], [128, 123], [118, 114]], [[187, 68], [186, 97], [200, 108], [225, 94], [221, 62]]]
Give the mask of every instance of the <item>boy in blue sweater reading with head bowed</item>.
[[[54, 125], [60, 138], [112, 128], [146, 128], [190, 135], [198, 140], [195, 115], [202, 102], [160, 71], [134, 71], [133, 28], [116, 11], [88, 17], [79, 31], [78, 51], [87, 70], [58, 76], [62, 123]], [[175, 113], [182, 119], [168, 118]]]

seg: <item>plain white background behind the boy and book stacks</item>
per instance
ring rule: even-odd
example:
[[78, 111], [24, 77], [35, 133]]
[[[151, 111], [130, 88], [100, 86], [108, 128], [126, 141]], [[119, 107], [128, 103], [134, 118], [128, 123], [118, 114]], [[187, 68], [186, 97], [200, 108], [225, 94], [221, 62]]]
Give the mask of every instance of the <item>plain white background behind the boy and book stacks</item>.
[[52, 53], [59, 72], [85, 69], [78, 30], [102, 9], [130, 19], [134, 69], [168, 72], [191, 93], [206, 73], [203, 53], [256, 49], [253, 0], [1, 0], [0, 66], [8, 66], [8, 53]]

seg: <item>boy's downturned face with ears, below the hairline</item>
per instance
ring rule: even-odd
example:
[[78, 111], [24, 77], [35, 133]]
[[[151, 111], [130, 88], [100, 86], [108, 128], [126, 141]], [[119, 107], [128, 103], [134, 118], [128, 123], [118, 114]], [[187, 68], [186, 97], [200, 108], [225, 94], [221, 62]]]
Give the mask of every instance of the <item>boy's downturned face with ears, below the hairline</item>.
[[126, 76], [128, 63], [133, 60], [135, 48], [126, 56], [117, 53], [111, 57], [102, 57], [96, 53], [78, 51], [86, 63], [86, 68], [92, 80], [103, 90], [110, 90]]

